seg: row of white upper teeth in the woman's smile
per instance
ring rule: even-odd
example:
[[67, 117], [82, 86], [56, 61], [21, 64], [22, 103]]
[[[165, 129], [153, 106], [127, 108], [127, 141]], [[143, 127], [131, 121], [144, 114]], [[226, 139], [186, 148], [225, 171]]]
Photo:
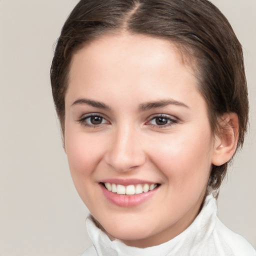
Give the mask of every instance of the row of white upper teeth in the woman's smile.
[[112, 191], [113, 193], [117, 194], [127, 194], [127, 195], [132, 195], [132, 194], [140, 194], [140, 193], [146, 193], [150, 190], [153, 190], [157, 184], [136, 184], [136, 185], [120, 185], [120, 184], [114, 184], [114, 183], [109, 183], [105, 182], [104, 183], [106, 189], [108, 191]]

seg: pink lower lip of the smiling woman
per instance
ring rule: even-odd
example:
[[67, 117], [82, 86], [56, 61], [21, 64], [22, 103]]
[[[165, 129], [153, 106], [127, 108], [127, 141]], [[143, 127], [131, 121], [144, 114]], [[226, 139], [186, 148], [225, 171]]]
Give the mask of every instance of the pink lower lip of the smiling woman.
[[104, 185], [100, 184], [102, 192], [104, 196], [110, 201], [111, 203], [121, 206], [121, 207], [133, 207], [137, 206], [147, 199], [149, 199], [157, 190], [158, 187], [150, 190], [146, 193], [134, 194], [134, 195], [124, 195], [124, 194], [117, 194], [111, 191], [108, 191]]

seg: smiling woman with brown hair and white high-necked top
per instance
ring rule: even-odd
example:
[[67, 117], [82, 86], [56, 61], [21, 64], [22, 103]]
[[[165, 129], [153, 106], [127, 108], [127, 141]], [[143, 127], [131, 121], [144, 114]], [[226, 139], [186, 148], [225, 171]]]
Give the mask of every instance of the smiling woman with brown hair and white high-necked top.
[[242, 49], [206, 0], [81, 0], [51, 67], [91, 212], [82, 255], [255, 255], [214, 196], [248, 119]]

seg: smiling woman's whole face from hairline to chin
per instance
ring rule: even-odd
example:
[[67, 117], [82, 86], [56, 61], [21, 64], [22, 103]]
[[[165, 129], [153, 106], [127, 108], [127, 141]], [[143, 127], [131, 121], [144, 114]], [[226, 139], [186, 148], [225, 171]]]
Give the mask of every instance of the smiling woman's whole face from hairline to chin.
[[107, 34], [74, 54], [64, 145], [91, 214], [137, 247], [193, 221], [214, 157], [191, 67], [168, 41], [137, 34]]

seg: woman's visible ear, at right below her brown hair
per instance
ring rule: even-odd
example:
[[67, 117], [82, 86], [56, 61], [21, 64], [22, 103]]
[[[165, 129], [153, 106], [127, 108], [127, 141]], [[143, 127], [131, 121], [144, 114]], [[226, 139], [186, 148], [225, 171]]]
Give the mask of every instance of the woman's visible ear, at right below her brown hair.
[[214, 138], [214, 148], [211, 163], [221, 165], [228, 162], [233, 156], [239, 131], [239, 122], [236, 113], [225, 113], [219, 118], [219, 130]]

